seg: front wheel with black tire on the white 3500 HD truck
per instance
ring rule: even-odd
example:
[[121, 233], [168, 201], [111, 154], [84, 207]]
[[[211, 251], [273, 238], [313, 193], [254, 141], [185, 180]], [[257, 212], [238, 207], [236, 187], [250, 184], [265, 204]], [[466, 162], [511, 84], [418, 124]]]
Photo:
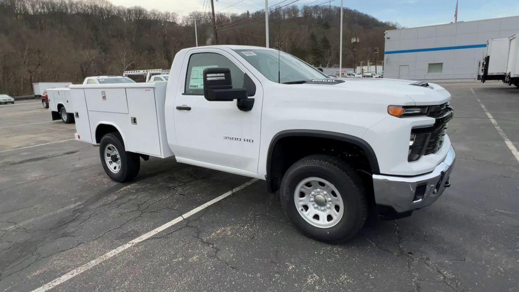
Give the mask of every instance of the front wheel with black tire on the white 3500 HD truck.
[[345, 242], [356, 235], [368, 211], [366, 191], [357, 172], [329, 155], [310, 155], [294, 163], [281, 180], [280, 200], [299, 231], [326, 243]]

